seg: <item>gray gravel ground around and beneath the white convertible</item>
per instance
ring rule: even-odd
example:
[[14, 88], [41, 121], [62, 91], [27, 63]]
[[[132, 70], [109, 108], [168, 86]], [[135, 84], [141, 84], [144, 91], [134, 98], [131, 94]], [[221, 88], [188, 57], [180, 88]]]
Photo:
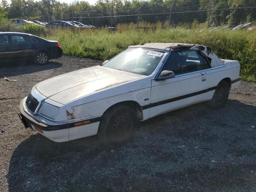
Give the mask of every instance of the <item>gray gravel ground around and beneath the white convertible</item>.
[[120, 148], [96, 136], [55, 143], [24, 129], [18, 106], [34, 84], [100, 63], [63, 56], [0, 68], [1, 192], [256, 191], [255, 83], [232, 90], [223, 109], [202, 103], [142, 122]]

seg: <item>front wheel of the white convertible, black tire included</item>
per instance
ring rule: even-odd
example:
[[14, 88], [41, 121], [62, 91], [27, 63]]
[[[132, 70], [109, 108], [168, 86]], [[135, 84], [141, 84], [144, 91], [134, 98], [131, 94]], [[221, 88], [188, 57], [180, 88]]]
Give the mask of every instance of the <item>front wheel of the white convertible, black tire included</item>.
[[107, 146], [122, 146], [133, 138], [137, 128], [138, 120], [135, 110], [118, 105], [102, 116], [98, 138]]

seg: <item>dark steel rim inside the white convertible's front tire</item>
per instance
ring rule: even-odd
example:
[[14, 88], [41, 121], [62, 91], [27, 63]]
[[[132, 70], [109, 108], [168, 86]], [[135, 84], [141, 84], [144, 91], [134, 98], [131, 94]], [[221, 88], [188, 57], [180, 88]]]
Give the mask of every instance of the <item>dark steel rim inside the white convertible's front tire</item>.
[[122, 115], [117, 117], [111, 127], [111, 136], [116, 141], [124, 140], [131, 130], [132, 124], [129, 116]]

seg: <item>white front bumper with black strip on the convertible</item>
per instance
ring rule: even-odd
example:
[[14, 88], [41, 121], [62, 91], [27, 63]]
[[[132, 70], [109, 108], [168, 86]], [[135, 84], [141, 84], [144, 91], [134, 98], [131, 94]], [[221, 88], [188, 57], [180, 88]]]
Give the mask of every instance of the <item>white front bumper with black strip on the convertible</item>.
[[43, 136], [55, 142], [68, 141], [68, 123], [50, 125], [32, 118], [23, 108], [24, 99], [20, 101], [20, 119], [26, 128], [32, 128]]

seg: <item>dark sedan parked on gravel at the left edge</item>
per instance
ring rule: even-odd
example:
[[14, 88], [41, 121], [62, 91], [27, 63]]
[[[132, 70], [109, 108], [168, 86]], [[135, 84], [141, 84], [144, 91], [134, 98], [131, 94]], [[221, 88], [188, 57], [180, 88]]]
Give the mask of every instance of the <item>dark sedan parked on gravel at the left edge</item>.
[[58, 41], [26, 33], [0, 32], [0, 61], [34, 60], [36, 64], [47, 64], [61, 56]]

